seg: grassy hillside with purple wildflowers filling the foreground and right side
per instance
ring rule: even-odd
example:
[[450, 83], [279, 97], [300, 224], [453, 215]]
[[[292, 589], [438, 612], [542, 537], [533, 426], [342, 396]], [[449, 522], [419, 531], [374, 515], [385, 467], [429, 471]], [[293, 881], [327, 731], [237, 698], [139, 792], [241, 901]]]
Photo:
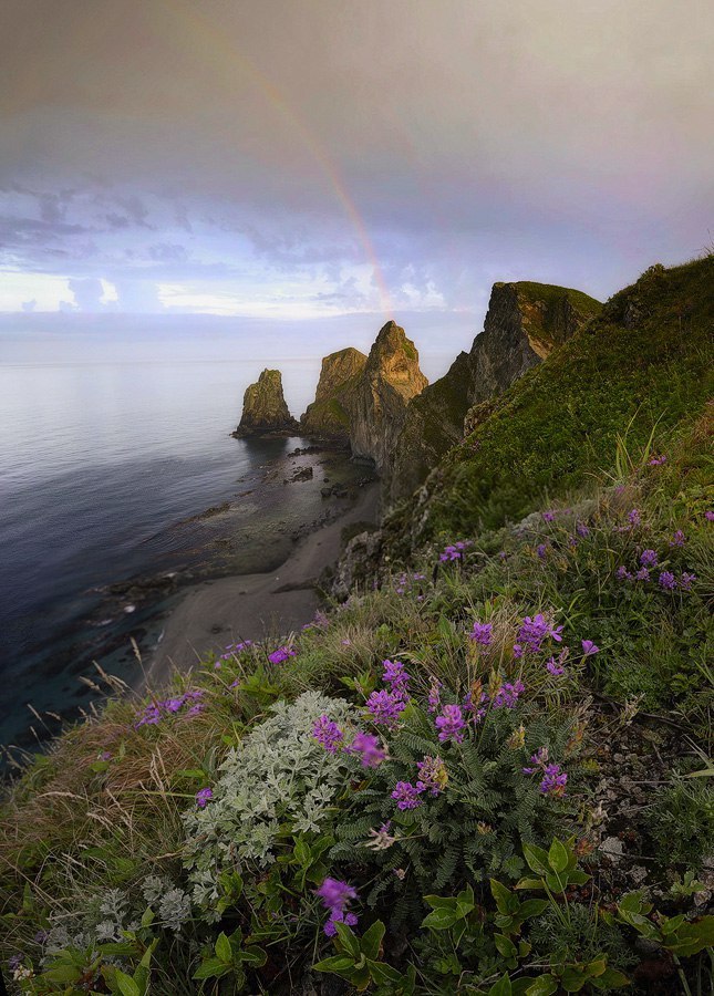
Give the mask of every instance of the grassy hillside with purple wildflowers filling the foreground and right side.
[[648, 271], [346, 602], [22, 762], [17, 992], [712, 992], [712, 290]]

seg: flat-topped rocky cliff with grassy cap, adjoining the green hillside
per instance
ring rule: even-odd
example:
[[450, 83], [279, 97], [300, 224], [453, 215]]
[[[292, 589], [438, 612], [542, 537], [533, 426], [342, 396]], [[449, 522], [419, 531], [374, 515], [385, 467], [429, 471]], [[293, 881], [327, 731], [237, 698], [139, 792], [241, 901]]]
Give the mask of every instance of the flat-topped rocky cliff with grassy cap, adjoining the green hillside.
[[472, 406], [505, 391], [569, 339], [602, 305], [581, 291], [547, 283], [495, 283], [484, 331], [469, 353], [410, 404], [385, 471], [386, 494], [399, 500], [418, 487], [464, 436]]

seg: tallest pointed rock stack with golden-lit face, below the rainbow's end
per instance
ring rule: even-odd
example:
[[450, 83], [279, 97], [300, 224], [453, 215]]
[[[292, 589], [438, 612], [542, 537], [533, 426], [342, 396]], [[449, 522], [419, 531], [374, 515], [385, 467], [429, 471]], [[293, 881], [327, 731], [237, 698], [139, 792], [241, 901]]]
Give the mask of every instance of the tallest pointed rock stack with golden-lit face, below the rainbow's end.
[[358, 457], [387, 467], [411, 398], [427, 380], [418, 366], [418, 353], [404, 329], [387, 322], [370, 350], [362, 376], [350, 400], [350, 446]]

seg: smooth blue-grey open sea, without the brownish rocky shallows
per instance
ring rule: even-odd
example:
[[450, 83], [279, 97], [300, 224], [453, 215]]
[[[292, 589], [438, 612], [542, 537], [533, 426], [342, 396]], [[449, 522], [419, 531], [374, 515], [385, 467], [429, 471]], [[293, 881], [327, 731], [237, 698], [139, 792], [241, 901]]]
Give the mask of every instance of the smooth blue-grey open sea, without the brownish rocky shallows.
[[[319, 361], [280, 365], [299, 415]], [[0, 365], [0, 743], [27, 733], [27, 703], [63, 710], [86, 695], [75, 672], [87, 673], [87, 653], [73, 653], [77, 640], [93, 635], [90, 656], [103, 662], [110, 635], [116, 644], [124, 634], [128, 646], [139, 613], [101, 632], [96, 589], [180, 563], [195, 537], [177, 522], [259, 486], [266, 464], [302, 443], [229, 437], [259, 369], [166, 360]], [[245, 504], [255, 515], [255, 498]], [[255, 558], [247, 568], [256, 569]], [[92, 614], [94, 629], [83, 631]]]

